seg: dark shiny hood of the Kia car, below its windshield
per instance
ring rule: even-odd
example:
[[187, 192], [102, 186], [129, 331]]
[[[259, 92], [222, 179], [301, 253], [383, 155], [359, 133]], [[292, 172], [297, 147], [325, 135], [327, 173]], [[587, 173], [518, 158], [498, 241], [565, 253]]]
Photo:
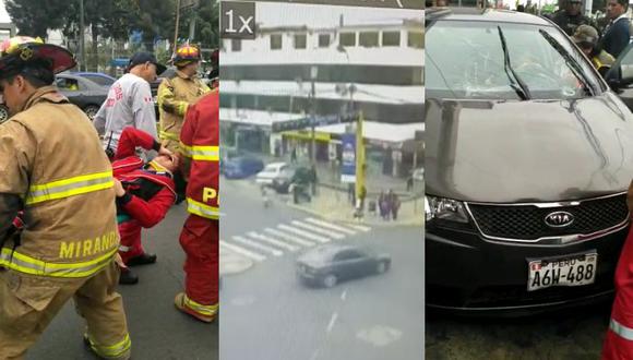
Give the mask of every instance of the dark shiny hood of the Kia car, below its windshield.
[[625, 191], [633, 115], [612, 93], [578, 100], [427, 99], [427, 194], [512, 203]]

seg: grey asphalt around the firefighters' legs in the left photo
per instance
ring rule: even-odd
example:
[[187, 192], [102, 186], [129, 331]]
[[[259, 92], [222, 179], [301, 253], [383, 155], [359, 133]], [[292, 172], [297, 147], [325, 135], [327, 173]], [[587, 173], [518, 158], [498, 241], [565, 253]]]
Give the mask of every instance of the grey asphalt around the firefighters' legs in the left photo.
[[[141, 281], [122, 286], [134, 360], [217, 359], [218, 324], [204, 324], [181, 314], [174, 296], [182, 289], [184, 255], [178, 236], [186, 214], [184, 204], [172, 207], [167, 218], [145, 232], [146, 250], [158, 254], [154, 265], [135, 267]], [[28, 360], [95, 359], [82, 343], [83, 323], [72, 302], [46, 329], [28, 352]]]

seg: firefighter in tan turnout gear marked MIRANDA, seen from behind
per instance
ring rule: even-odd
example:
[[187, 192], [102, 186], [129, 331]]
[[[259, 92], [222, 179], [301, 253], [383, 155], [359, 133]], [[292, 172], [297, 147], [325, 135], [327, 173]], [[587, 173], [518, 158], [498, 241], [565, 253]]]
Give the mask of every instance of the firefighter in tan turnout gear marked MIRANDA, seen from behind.
[[[85, 319], [103, 359], [129, 359], [112, 169], [86, 115], [51, 86], [75, 65], [65, 49], [15, 37], [0, 45], [0, 359], [23, 359], [64, 303]], [[23, 229], [7, 237], [23, 212]]]

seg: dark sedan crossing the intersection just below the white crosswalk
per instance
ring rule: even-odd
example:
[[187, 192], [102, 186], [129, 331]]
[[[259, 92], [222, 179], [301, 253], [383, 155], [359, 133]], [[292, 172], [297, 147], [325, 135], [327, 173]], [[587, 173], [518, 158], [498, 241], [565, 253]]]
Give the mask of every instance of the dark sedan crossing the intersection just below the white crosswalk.
[[326, 288], [343, 280], [383, 274], [390, 267], [389, 254], [377, 254], [368, 248], [341, 243], [314, 248], [297, 259], [299, 279]]

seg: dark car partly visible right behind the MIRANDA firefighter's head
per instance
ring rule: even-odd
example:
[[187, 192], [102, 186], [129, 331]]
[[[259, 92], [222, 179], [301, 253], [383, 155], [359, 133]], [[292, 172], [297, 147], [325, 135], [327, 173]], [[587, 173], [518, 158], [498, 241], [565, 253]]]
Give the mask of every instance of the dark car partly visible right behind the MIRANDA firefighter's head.
[[108, 87], [85, 77], [62, 73], [56, 75], [56, 85], [68, 99], [79, 106], [92, 120], [108, 97]]

